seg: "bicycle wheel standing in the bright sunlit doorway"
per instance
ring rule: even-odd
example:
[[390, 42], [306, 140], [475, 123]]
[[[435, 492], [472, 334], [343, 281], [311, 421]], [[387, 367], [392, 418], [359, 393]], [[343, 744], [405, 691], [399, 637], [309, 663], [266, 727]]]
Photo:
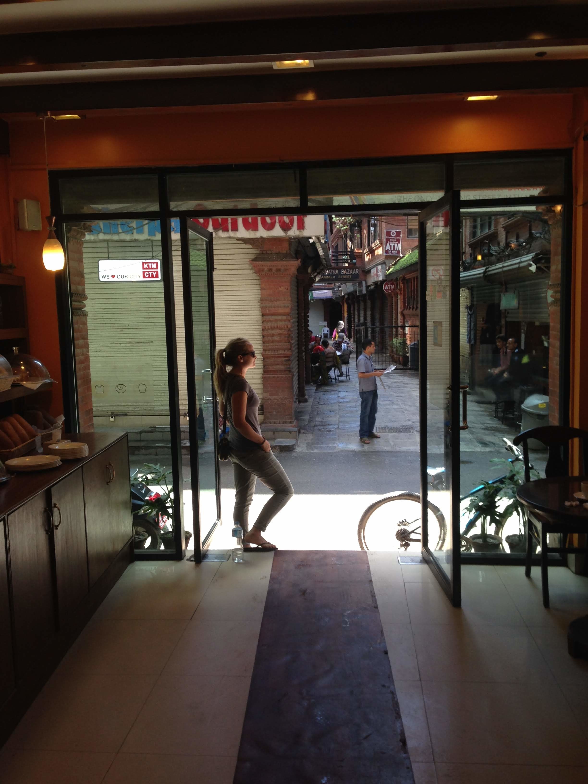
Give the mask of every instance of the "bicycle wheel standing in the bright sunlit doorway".
[[[394, 503], [393, 503], [394, 502]], [[428, 503], [428, 529], [434, 550], [443, 550], [447, 527], [441, 510]], [[408, 550], [421, 541], [421, 503], [418, 492], [394, 492], [374, 501], [361, 515], [358, 543], [361, 550]]]

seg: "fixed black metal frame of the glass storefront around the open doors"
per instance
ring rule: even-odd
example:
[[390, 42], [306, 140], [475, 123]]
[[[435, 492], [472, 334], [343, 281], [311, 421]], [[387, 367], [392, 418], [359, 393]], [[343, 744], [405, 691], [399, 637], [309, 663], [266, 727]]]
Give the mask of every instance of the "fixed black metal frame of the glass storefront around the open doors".
[[[329, 214], [347, 215], [351, 210], [357, 214], [373, 214], [374, 212], [419, 212], [427, 209], [430, 202], [389, 202], [379, 205], [309, 205], [307, 190], [307, 173], [310, 169], [323, 168], [344, 168], [358, 167], [367, 165], [390, 165], [407, 164], [422, 162], [438, 162], [445, 166], [445, 192], [447, 193], [453, 184], [454, 165], [459, 162], [492, 162], [505, 160], [521, 160], [525, 158], [564, 158], [564, 183], [560, 194], [541, 195], [524, 198], [492, 198], [468, 200], [464, 203], [468, 208], [484, 207], [504, 207], [522, 208], [525, 205], [553, 205], [561, 204], [564, 207], [564, 227], [562, 231], [562, 269], [561, 269], [561, 300], [562, 303], [571, 303], [572, 297], [572, 218], [573, 218], [573, 198], [572, 198], [572, 150], [568, 148], [557, 150], [526, 150], [526, 151], [501, 151], [501, 152], [482, 152], [482, 153], [463, 153], [445, 155], [413, 155], [395, 158], [351, 158], [335, 159], [310, 162], [283, 162], [283, 163], [257, 163], [239, 165], [207, 165], [207, 166], [176, 166], [176, 167], [141, 167], [141, 168], [119, 168], [119, 169], [60, 169], [49, 172], [49, 195], [51, 199], [51, 212], [56, 216], [57, 236], [60, 237], [64, 248], [66, 238], [64, 227], [66, 223], [96, 223], [102, 220], [155, 220], [161, 222], [162, 227], [162, 274], [164, 280], [165, 296], [165, 318], [168, 320], [166, 335], [166, 347], [168, 351], [168, 382], [169, 382], [169, 414], [170, 423], [176, 422], [176, 428], [172, 427], [172, 470], [174, 482], [181, 483], [181, 443], [180, 443], [180, 401], [177, 379], [177, 360], [176, 360], [176, 324], [173, 310], [173, 279], [172, 279], [172, 238], [171, 221], [185, 218], [198, 219], [212, 216], [249, 216], [260, 215], [317, 215], [328, 212]], [[299, 180], [299, 207], [279, 207], [263, 209], [212, 209], [212, 210], [172, 210], [169, 208], [167, 191], [167, 176], [170, 173], [190, 173], [190, 172], [254, 172], [269, 171], [275, 169], [293, 169], [298, 172]], [[152, 175], [158, 177], [159, 209], [145, 212], [80, 212], [65, 213], [62, 209], [60, 198], [60, 180], [63, 178], [82, 178], [88, 176], [129, 176], [129, 175]], [[212, 276], [211, 276], [212, 277]], [[71, 292], [69, 287], [69, 276], [67, 265], [63, 272], [56, 273], [56, 297], [59, 314], [59, 332], [62, 379], [64, 381], [64, 415], [67, 430], [78, 430], [78, 402], [76, 387], [76, 368], [74, 354], [74, 333], [71, 320]], [[213, 300], [212, 300], [213, 301]], [[563, 312], [563, 311], [562, 311]], [[560, 423], [567, 424], [569, 421], [569, 389], [570, 378], [567, 372], [569, 367], [569, 346], [571, 339], [571, 314], [564, 312], [561, 321], [561, 362], [560, 362]], [[421, 317], [422, 318], [422, 317]], [[175, 431], [175, 432], [174, 432]], [[217, 466], [218, 470], [218, 466]], [[178, 499], [175, 508], [176, 519], [182, 521], [178, 526], [176, 534], [176, 552], [168, 554], [156, 554], [154, 556], [137, 554], [138, 558], [157, 557], [162, 559], [178, 559], [185, 554], [183, 543], [183, 509], [179, 499], [181, 497], [179, 489], [181, 485], [174, 486], [174, 496]], [[181, 535], [180, 535], [181, 528]], [[468, 558], [468, 563], [506, 563], [514, 562], [508, 557], [497, 557], [495, 559], [475, 560]]]

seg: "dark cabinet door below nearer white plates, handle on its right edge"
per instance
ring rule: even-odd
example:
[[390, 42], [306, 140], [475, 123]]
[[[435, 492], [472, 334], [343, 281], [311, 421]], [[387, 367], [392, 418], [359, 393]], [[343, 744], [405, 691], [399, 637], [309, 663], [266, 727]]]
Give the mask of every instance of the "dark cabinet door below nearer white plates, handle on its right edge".
[[56, 633], [51, 517], [46, 492], [8, 516], [18, 677], [43, 655]]

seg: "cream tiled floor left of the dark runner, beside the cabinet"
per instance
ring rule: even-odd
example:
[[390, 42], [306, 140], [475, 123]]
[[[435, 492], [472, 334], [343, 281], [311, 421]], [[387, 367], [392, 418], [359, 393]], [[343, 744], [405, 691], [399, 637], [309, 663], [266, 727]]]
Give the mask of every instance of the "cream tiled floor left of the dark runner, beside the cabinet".
[[132, 564], [0, 754], [2, 784], [230, 784], [271, 571]]

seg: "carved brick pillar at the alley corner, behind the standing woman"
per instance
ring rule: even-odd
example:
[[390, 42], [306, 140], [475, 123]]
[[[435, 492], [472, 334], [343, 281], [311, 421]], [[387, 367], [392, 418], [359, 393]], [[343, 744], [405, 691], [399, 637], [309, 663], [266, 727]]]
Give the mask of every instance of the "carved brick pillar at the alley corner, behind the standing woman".
[[[286, 240], [287, 241], [287, 240]], [[267, 245], [265, 246], [267, 247]], [[294, 424], [292, 356], [298, 326], [292, 279], [299, 260], [289, 252], [260, 252], [251, 261], [260, 276], [263, 335], [263, 424]]]

